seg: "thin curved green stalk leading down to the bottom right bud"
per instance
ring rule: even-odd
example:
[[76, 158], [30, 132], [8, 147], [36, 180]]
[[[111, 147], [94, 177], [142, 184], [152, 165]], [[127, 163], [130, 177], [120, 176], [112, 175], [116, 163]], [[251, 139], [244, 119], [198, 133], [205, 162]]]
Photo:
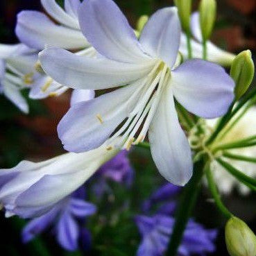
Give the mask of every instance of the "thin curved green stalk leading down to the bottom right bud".
[[219, 194], [219, 191], [216, 187], [216, 184], [214, 182], [214, 178], [212, 176], [212, 171], [210, 169], [210, 164], [207, 164], [206, 167], [206, 178], [207, 178], [207, 182], [209, 185], [209, 189], [211, 191], [211, 194], [214, 198], [214, 201], [216, 203], [216, 206], [219, 208], [220, 212], [223, 213], [223, 215], [227, 218], [230, 219], [233, 214], [225, 207], [225, 205], [223, 205], [222, 201], [221, 201], [221, 196]]

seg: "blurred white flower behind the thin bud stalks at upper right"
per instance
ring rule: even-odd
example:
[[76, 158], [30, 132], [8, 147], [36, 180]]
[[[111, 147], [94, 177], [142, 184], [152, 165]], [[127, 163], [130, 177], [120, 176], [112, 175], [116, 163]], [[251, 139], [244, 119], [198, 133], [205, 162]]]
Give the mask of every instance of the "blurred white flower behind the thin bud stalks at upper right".
[[[191, 39], [192, 56], [193, 58], [202, 58], [203, 44], [198, 12], [194, 12], [191, 15], [191, 33], [195, 39]], [[181, 35], [180, 52], [187, 59], [187, 38], [184, 34]], [[223, 51], [210, 41], [207, 42], [207, 59], [209, 61], [219, 63], [223, 66], [230, 66], [234, 58], [234, 54]]]

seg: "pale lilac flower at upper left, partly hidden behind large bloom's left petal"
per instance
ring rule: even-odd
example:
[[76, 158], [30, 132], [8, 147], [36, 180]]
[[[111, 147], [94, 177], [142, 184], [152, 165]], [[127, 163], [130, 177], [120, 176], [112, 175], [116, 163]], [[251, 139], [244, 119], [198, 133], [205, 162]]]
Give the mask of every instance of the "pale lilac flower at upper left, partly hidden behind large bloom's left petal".
[[[27, 46], [43, 50], [49, 46], [62, 49], [79, 50], [76, 54], [94, 58], [96, 51], [89, 45], [78, 23], [80, 0], [65, 0], [62, 9], [55, 0], [42, 0], [46, 13], [58, 24], [42, 12], [23, 10], [17, 15], [15, 32], [19, 40]], [[37, 63], [40, 67], [40, 63]], [[69, 89], [49, 76], [43, 76], [40, 83], [31, 89], [31, 99], [43, 99], [46, 96], [59, 96]]]

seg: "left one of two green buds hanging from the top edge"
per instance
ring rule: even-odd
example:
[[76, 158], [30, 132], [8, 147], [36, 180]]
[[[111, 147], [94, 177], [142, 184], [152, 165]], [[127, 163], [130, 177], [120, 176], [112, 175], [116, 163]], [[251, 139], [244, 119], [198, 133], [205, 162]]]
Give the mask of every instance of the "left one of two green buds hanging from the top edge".
[[182, 29], [187, 33], [190, 31], [191, 0], [174, 0], [178, 8]]

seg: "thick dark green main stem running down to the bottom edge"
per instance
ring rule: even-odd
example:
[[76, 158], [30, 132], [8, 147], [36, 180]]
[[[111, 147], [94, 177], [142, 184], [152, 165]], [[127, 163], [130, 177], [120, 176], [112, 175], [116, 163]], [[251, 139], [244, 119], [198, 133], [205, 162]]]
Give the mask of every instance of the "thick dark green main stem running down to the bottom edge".
[[187, 222], [194, 209], [198, 192], [200, 191], [200, 180], [203, 176], [203, 162], [198, 162], [194, 167], [194, 174], [183, 190], [182, 198], [180, 199], [178, 212], [176, 215], [176, 223], [171, 234], [167, 254], [168, 256], [176, 256], [180, 242], [182, 241], [183, 233], [187, 227]]

